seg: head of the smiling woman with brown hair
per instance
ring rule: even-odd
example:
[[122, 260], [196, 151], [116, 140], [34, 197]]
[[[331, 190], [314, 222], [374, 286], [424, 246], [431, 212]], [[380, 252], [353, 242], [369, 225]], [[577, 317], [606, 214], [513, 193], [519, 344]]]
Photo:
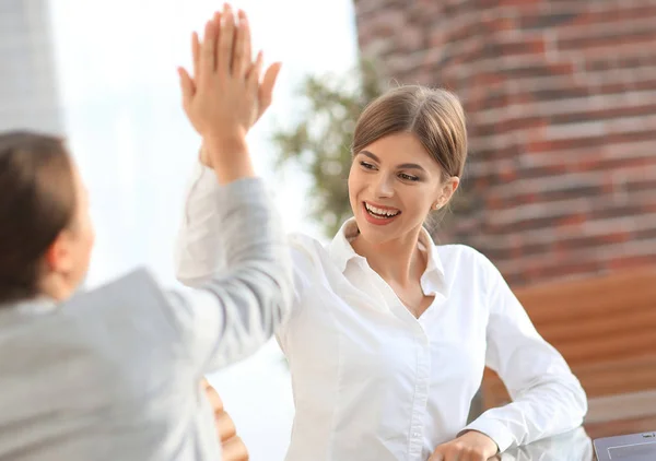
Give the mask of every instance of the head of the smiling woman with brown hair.
[[[352, 154], [349, 191], [360, 232], [421, 226], [458, 188], [467, 158], [462, 108], [446, 91], [396, 88], [363, 111]], [[395, 237], [386, 227], [382, 238]]]

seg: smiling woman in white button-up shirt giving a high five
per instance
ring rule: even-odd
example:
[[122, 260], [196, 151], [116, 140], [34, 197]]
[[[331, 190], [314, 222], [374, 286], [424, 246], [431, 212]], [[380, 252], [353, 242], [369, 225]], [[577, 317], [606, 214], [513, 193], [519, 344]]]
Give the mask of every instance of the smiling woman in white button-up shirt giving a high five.
[[[458, 188], [465, 116], [443, 90], [401, 86], [354, 131], [348, 220], [327, 247], [295, 235], [294, 302], [278, 339], [294, 387], [288, 461], [485, 461], [572, 429], [585, 393], [540, 338], [501, 273], [423, 227]], [[177, 245], [177, 275], [223, 268], [211, 243], [216, 187], [198, 166]], [[515, 398], [467, 424], [485, 366]]]

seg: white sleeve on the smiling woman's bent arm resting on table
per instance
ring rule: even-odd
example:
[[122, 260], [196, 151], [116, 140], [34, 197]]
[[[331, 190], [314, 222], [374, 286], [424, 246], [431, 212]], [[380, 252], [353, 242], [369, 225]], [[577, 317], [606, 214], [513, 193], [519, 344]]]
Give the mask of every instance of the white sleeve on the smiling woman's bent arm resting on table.
[[561, 354], [536, 331], [499, 270], [483, 257], [489, 289], [487, 365], [513, 400], [466, 427], [491, 437], [501, 451], [562, 434], [583, 423], [586, 394]]

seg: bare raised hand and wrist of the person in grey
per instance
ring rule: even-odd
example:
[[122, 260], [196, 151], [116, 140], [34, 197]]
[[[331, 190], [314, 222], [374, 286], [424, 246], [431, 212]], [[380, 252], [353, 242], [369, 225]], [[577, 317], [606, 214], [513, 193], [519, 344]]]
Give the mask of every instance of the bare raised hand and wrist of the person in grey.
[[259, 114], [261, 55], [250, 62], [250, 33], [229, 5], [208, 21], [202, 44], [192, 35], [195, 79], [178, 68], [183, 107], [203, 139], [208, 164], [221, 182], [254, 176], [246, 133]]

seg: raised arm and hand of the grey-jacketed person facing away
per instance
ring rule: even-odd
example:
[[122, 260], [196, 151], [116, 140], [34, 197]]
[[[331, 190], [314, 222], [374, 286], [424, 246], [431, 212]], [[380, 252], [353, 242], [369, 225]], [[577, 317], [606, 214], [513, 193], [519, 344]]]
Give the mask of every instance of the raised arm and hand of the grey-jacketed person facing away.
[[[203, 139], [207, 200], [216, 220], [221, 274], [199, 281], [194, 293], [171, 295], [187, 341], [211, 371], [253, 353], [271, 338], [289, 309], [292, 284], [285, 237], [278, 213], [255, 177], [246, 133], [258, 117], [261, 55], [250, 66], [248, 25], [230, 8], [208, 22], [202, 44], [194, 35], [195, 78], [179, 69], [185, 111]], [[208, 178], [208, 180], [210, 180]]]

